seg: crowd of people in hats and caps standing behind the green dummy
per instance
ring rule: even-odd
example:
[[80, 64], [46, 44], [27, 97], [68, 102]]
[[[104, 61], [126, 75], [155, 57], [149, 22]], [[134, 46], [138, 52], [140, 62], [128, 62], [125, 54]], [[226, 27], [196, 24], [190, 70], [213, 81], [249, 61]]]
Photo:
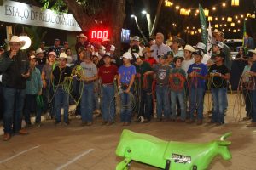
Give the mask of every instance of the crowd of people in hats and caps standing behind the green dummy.
[[[1, 50], [0, 54], [3, 140], [15, 133], [27, 134], [21, 122], [24, 119], [26, 127], [32, 126], [32, 112], [36, 113], [38, 127], [41, 116], [47, 113], [55, 119], [55, 126], [68, 126], [70, 104], [76, 104], [75, 113], [82, 126], [93, 124], [94, 112], [101, 113], [102, 125], [111, 126], [117, 106], [123, 126], [131, 124], [132, 116], [150, 122], [154, 111], [158, 122], [201, 125], [206, 90], [212, 94], [212, 118], [208, 123], [223, 125], [232, 59], [224, 33], [212, 33], [210, 56], [202, 42], [191, 46], [180, 37], [172, 37], [169, 46], [160, 32], [146, 47], [140, 37], [132, 37], [131, 48], [121, 57], [115, 55], [110, 39], [90, 42], [82, 33], [75, 45], [76, 54], [72, 54], [68, 42], [61, 46], [60, 39], [55, 39], [48, 50], [41, 42], [38, 49], [26, 54], [20, 50], [24, 42], [11, 37], [10, 50]], [[252, 119], [247, 127], [256, 127], [256, 49], [239, 54], [237, 59], [247, 63], [239, 83], [246, 101], [245, 120]]]

